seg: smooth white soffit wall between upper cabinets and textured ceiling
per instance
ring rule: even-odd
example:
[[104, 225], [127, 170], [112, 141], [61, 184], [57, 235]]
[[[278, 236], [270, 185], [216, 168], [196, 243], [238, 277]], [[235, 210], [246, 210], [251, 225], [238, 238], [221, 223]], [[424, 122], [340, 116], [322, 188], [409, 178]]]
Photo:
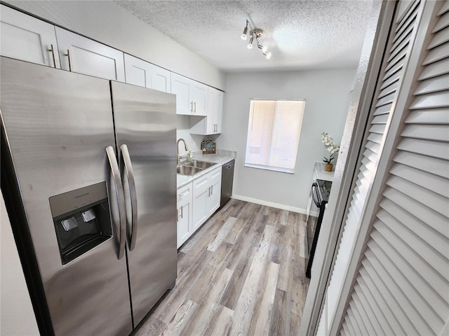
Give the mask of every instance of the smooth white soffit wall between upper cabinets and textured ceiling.
[[225, 90], [225, 74], [114, 1], [5, 1], [78, 34]]

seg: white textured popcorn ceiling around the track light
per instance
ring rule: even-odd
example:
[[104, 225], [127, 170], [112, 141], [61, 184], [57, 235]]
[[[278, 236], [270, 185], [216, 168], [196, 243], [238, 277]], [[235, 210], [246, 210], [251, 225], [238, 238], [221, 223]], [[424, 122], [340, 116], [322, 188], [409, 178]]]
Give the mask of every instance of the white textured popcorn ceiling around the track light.
[[[356, 67], [372, 0], [116, 1], [225, 72]], [[246, 20], [272, 52], [248, 50]], [[255, 45], [257, 47], [257, 45]]]

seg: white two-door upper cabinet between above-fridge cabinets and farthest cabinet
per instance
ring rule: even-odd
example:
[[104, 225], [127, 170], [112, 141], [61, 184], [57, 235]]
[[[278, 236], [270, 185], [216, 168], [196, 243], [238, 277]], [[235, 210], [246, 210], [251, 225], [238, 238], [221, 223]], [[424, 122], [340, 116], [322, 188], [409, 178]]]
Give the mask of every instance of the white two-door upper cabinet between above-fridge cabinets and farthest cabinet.
[[206, 116], [207, 85], [171, 73], [171, 93], [176, 94], [176, 113]]

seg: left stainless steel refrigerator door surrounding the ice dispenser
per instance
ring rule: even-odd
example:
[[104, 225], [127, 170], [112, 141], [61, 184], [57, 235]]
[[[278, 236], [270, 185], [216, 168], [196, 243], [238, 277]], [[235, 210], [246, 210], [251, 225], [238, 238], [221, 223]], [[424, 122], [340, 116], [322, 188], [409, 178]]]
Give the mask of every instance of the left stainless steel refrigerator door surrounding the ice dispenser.
[[[1, 118], [55, 335], [128, 335], [126, 258], [117, 257], [117, 201], [105, 151], [115, 141], [109, 81], [6, 57], [0, 62]], [[65, 196], [69, 201], [60, 202]], [[108, 211], [98, 209], [108, 202], [109, 232], [100, 223]], [[64, 228], [58, 233], [55, 225]], [[105, 241], [62, 265], [60, 247], [80, 230], [103, 231]], [[57, 235], [67, 236], [61, 246]]]

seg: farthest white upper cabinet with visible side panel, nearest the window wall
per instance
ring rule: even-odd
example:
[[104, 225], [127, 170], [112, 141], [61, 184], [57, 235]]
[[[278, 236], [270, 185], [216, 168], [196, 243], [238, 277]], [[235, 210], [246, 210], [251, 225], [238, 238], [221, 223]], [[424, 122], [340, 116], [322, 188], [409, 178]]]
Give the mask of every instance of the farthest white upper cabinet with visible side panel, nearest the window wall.
[[206, 118], [190, 118], [190, 133], [192, 134], [220, 134], [223, 118], [223, 92], [208, 87]]

